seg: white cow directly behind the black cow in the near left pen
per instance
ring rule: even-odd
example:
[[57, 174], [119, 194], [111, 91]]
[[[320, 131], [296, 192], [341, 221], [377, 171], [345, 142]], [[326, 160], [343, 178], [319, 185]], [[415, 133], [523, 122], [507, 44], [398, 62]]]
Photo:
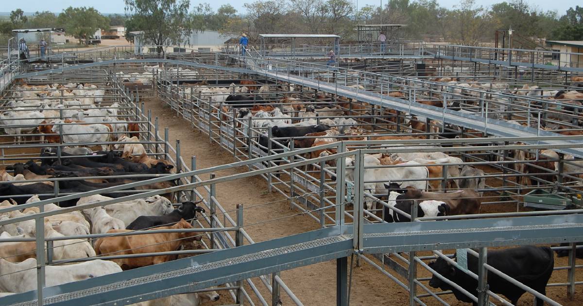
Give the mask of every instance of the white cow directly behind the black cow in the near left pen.
[[[77, 202], [77, 206], [88, 203], [107, 201], [111, 199], [113, 198], [102, 195], [90, 195], [84, 198], [80, 198]], [[171, 213], [174, 210], [170, 201], [159, 195], [149, 196], [145, 199], [135, 199], [110, 204], [105, 206], [104, 209], [111, 217], [124, 221], [124, 224], [132, 223], [132, 221], [134, 221], [139, 216], [162, 216], [164, 214]]]

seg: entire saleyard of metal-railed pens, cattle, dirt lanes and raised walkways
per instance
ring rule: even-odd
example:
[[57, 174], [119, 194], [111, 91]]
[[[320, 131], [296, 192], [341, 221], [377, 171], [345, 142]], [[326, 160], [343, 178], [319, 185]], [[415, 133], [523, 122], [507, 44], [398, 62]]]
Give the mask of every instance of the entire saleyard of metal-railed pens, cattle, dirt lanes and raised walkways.
[[582, 303], [583, 68], [204, 33], [2, 68], [0, 304]]

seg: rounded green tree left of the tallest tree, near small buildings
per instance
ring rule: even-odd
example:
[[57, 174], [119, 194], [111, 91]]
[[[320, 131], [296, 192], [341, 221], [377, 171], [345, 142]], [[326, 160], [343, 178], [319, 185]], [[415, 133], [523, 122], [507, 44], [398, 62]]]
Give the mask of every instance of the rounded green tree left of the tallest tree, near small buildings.
[[106, 29], [109, 20], [94, 8], [73, 8], [69, 6], [57, 17], [59, 24], [65, 27], [68, 34], [79, 39], [89, 38], [99, 29]]

